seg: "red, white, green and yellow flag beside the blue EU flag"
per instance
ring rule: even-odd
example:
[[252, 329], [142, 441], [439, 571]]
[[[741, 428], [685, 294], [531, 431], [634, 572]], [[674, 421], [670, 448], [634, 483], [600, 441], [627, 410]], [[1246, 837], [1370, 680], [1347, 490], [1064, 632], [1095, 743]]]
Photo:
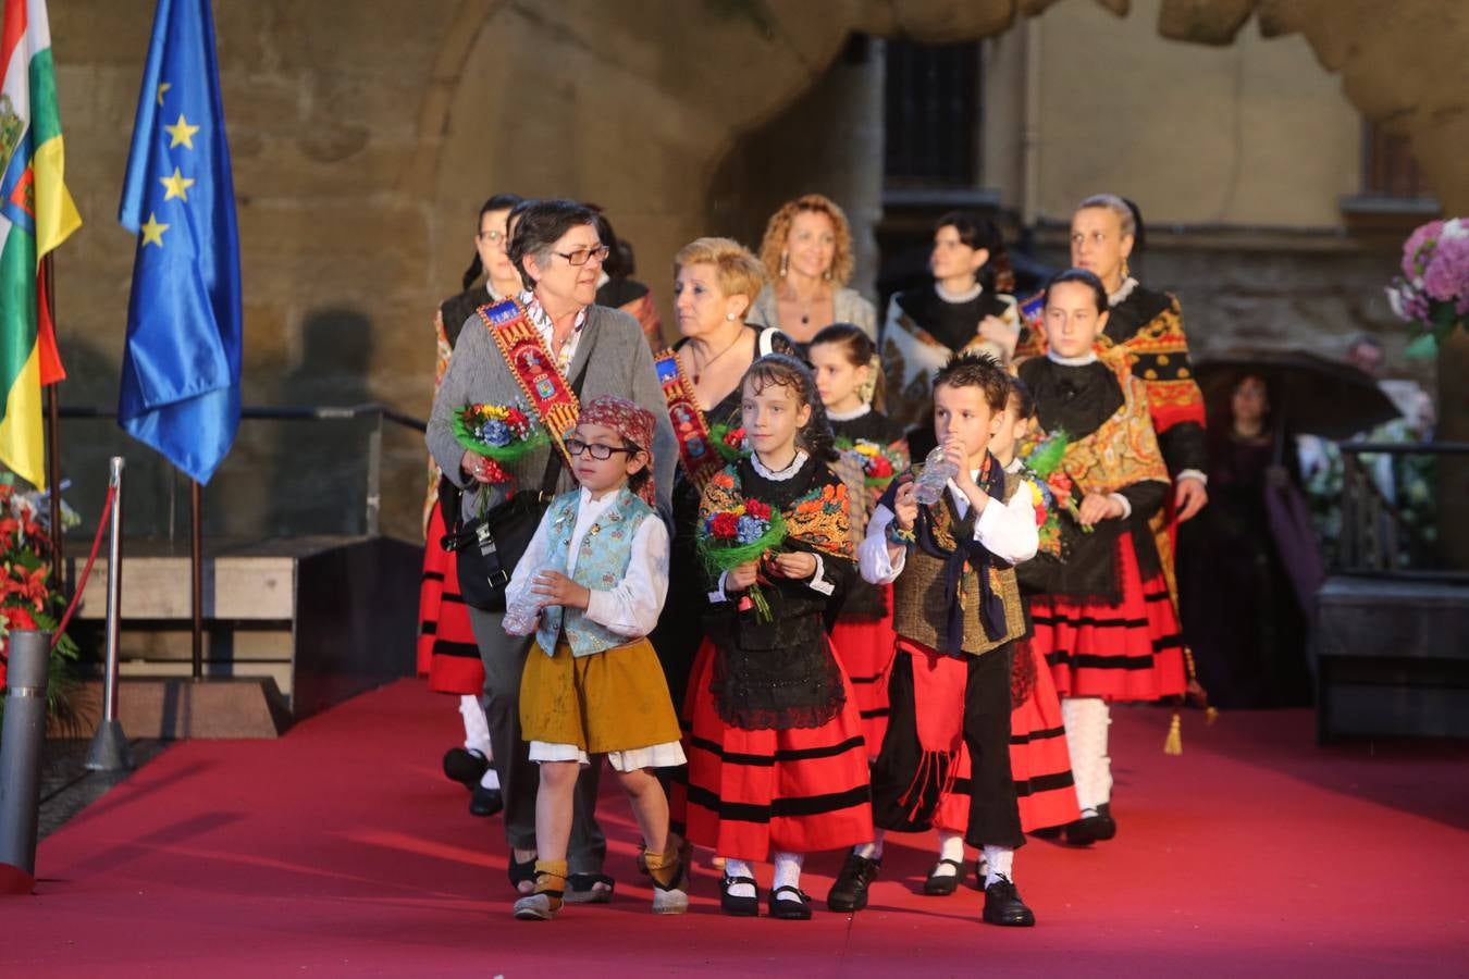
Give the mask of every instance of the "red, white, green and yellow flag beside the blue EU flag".
[[0, 462], [41, 487], [41, 386], [66, 376], [41, 258], [82, 223], [63, 181], [46, 0], [4, 0], [0, 65]]

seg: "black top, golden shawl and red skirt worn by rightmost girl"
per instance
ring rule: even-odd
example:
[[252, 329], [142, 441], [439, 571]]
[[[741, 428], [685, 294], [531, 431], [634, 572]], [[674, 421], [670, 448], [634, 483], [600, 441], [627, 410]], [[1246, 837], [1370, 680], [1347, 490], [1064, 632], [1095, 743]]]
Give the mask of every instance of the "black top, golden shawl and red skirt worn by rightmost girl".
[[[1149, 518], [1163, 505], [1168, 470], [1158, 451], [1143, 382], [1121, 355], [1081, 365], [1039, 357], [1019, 368], [1036, 395], [1043, 433], [1064, 429], [1059, 467], [1084, 493], [1121, 493], [1125, 518], [1083, 531], [1062, 514], [1066, 561], [1028, 600], [1031, 643], [1046, 656], [1062, 697], [1149, 702], [1181, 696], [1183, 637]], [[1049, 477], [1056, 486], [1058, 476]]]

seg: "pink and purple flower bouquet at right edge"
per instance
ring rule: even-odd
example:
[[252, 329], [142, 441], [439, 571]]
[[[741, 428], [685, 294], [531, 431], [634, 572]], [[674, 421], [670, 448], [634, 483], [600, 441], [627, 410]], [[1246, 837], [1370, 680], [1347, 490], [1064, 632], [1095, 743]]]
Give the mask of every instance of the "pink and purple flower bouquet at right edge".
[[1400, 319], [1418, 327], [1410, 357], [1432, 357], [1469, 319], [1469, 219], [1428, 222], [1403, 242], [1403, 274], [1387, 289]]

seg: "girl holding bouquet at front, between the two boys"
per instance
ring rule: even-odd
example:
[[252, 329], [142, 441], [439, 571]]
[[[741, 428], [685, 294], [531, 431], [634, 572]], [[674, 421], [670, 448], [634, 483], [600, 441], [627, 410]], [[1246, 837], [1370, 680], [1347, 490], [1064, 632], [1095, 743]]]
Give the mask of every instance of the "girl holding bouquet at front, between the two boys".
[[873, 825], [861, 721], [827, 640], [855, 574], [851, 503], [827, 468], [831, 429], [804, 364], [783, 354], [757, 360], [742, 382], [740, 415], [752, 452], [705, 487], [701, 545], [708, 552], [734, 525], [742, 543], [758, 543], [771, 511], [786, 536], [761, 558], [710, 575], [674, 828], [683, 823], [687, 840], [724, 859], [727, 914], [759, 913], [752, 865], [773, 854], [771, 917], [809, 919], [805, 853], [851, 847]]

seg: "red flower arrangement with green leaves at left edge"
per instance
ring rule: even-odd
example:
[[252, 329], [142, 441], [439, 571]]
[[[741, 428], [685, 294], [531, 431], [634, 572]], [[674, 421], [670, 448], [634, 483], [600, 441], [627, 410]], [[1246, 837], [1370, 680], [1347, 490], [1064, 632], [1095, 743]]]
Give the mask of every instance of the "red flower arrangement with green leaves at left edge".
[[[4, 683], [12, 630], [56, 633], [65, 597], [51, 589], [51, 537], [40, 493], [0, 481], [0, 685]], [[63, 524], [75, 514], [63, 508]], [[76, 643], [65, 633], [51, 646], [47, 709], [69, 718], [66, 693], [73, 684]]]

